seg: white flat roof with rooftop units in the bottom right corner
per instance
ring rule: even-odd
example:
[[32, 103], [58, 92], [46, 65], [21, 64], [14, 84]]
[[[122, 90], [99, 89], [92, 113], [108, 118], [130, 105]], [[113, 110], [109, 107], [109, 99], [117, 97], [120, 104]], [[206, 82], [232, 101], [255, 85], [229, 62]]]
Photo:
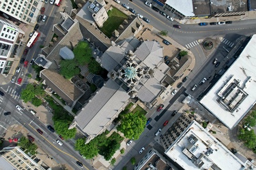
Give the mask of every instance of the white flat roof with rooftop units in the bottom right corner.
[[[256, 169], [249, 160], [240, 160], [195, 120], [165, 151], [182, 169]], [[177, 167], [177, 166], [176, 166]]]

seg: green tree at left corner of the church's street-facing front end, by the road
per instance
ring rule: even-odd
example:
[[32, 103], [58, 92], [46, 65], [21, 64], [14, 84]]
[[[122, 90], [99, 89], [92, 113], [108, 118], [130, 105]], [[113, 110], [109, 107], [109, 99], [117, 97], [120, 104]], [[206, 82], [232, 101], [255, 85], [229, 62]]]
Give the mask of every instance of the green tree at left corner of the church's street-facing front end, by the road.
[[64, 139], [71, 139], [76, 135], [76, 128], [68, 129], [70, 123], [69, 120], [62, 119], [54, 121], [55, 131]]

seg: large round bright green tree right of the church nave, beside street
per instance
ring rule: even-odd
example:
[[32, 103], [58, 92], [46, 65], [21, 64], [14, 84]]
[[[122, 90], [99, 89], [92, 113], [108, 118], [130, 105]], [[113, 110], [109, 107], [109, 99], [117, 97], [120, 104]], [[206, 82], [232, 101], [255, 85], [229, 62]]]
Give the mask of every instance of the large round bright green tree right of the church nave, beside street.
[[121, 124], [117, 126], [117, 130], [124, 133], [124, 136], [130, 139], [139, 139], [144, 131], [146, 118], [139, 112], [125, 114], [121, 120]]

